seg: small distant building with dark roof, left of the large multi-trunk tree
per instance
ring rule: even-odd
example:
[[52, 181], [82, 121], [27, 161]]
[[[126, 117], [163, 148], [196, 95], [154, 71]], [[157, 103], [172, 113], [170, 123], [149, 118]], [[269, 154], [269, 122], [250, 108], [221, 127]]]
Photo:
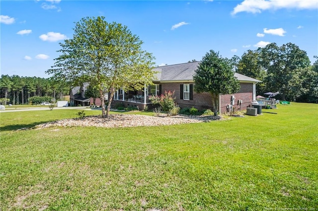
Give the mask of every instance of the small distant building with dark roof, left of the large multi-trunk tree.
[[90, 98], [85, 98], [85, 90], [88, 83], [74, 87], [70, 91], [70, 106], [89, 106]]

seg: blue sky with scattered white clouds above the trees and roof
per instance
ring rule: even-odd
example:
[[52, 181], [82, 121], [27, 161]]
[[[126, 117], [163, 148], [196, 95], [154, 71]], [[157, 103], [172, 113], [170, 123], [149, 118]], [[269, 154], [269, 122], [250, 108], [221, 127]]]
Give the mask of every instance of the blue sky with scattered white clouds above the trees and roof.
[[1, 0], [1, 74], [50, 77], [59, 42], [82, 17], [126, 25], [156, 64], [241, 56], [268, 43], [318, 55], [318, 0]]

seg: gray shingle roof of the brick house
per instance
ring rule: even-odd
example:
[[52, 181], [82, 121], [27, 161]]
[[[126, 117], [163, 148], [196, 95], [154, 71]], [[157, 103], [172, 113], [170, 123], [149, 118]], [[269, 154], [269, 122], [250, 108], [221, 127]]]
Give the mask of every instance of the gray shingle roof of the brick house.
[[[157, 80], [154, 81], [193, 81], [193, 75], [199, 66], [199, 62], [200, 61], [195, 61], [157, 67], [154, 71], [158, 71], [159, 73], [156, 74]], [[239, 81], [261, 82], [239, 73], [235, 73], [234, 76], [237, 77]]]

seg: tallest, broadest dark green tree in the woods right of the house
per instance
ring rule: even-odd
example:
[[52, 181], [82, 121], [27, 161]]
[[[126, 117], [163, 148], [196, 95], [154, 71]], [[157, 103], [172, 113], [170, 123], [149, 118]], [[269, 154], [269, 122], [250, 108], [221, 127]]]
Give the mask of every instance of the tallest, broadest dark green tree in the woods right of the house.
[[[302, 69], [310, 66], [307, 53], [298, 46], [287, 43], [281, 47], [271, 43], [261, 50], [262, 66], [267, 70], [266, 86], [269, 91], [279, 91], [282, 100], [295, 100]], [[293, 91], [294, 92], [291, 92]]]

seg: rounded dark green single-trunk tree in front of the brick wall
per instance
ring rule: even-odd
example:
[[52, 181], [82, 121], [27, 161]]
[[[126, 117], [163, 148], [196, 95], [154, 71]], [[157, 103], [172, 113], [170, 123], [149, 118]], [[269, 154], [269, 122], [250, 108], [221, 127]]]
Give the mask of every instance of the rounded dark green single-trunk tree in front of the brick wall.
[[222, 58], [210, 50], [203, 56], [193, 76], [194, 90], [197, 93], [209, 92], [212, 95], [214, 115], [218, 115], [219, 95], [239, 91], [239, 80], [234, 77], [230, 59]]

